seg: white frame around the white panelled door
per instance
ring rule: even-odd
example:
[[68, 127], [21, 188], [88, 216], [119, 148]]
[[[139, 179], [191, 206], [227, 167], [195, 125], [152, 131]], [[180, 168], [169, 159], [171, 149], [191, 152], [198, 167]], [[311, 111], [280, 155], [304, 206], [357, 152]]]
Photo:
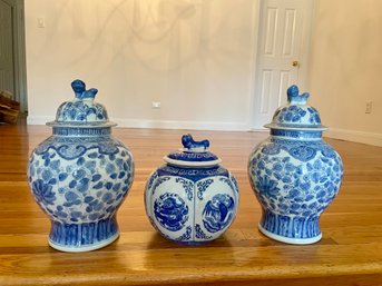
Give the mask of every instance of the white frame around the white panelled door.
[[[312, 32], [313, 32], [313, 16], [314, 16], [314, 11], [315, 11], [315, 4], [316, 1], [315, 0], [303, 0], [303, 1], [308, 1], [310, 2], [310, 11], [307, 11], [306, 17], [304, 18], [304, 30], [303, 30], [303, 37], [302, 37], [302, 46], [304, 47], [304, 49], [302, 49], [302, 55], [301, 55], [301, 61], [303, 62], [303, 65], [300, 67], [300, 71], [298, 73], [303, 73], [304, 77], [298, 78], [298, 87], [301, 89], [301, 91], [305, 91], [308, 89], [308, 85], [310, 85], [310, 77], [308, 77], [308, 72], [310, 72], [310, 56], [311, 56], [311, 51], [312, 51]], [[264, 27], [262, 27], [262, 19], [264, 17], [263, 14], [263, 6], [264, 6], [264, 0], [257, 0], [257, 4], [256, 4], [256, 32], [254, 36], [254, 48], [256, 49], [254, 52], [254, 59], [253, 59], [253, 71], [252, 71], [252, 80], [253, 83], [251, 85], [251, 89], [252, 89], [252, 100], [251, 100], [251, 115], [249, 115], [249, 120], [251, 120], [251, 130], [256, 130], [256, 131], [264, 131], [266, 130], [263, 127], [259, 127], [258, 124], [256, 122], [256, 105], [259, 102], [259, 97], [261, 95], [256, 93], [257, 90], [257, 85], [259, 85], [259, 77], [258, 77], [258, 70], [257, 70], [257, 62], [258, 62], [258, 57], [259, 57], [259, 47], [262, 45], [261, 42], [261, 29], [263, 29]]]

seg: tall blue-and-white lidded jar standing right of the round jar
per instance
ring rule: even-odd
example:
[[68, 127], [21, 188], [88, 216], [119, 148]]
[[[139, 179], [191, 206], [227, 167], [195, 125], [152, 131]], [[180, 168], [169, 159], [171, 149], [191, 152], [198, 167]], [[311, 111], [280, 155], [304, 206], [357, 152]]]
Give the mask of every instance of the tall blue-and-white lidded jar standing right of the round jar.
[[321, 214], [337, 195], [343, 165], [340, 155], [322, 140], [326, 127], [316, 109], [306, 105], [308, 93], [287, 90], [281, 107], [265, 127], [271, 136], [249, 156], [248, 176], [262, 206], [259, 230], [287, 244], [321, 239]]

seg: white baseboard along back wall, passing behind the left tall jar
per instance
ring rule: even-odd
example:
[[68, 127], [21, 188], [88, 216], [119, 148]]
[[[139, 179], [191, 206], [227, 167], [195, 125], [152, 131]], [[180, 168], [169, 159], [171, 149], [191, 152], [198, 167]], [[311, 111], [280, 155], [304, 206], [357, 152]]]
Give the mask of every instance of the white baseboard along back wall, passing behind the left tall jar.
[[[28, 125], [45, 125], [55, 120], [51, 117], [28, 116]], [[111, 118], [118, 127], [125, 128], [154, 128], [154, 129], [187, 129], [187, 130], [222, 130], [222, 131], [249, 131], [246, 122], [218, 122], [218, 121], [174, 121], [174, 120], [146, 120]]]

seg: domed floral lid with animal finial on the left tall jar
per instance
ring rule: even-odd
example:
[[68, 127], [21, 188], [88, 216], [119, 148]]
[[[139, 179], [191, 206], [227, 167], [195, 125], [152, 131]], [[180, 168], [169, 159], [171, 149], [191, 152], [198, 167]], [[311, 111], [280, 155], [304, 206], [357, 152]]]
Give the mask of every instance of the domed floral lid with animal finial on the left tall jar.
[[56, 120], [47, 122], [53, 127], [110, 127], [116, 126], [109, 121], [106, 108], [95, 102], [97, 89], [86, 90], [82, 80], [76, 79], [71, 82], [75, 91], [75, 99], [66, 101], [59, 106], [56, 114]]

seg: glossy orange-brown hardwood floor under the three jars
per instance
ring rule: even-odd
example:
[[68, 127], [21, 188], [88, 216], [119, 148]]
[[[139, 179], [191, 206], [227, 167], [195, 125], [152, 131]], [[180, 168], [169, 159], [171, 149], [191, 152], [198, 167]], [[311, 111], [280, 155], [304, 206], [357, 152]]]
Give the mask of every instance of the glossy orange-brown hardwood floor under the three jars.
[[47, 244], [50, 224], [30, 195], [30, 151], [50, 134], [45, 126], [0, 126], [0, 285], [382, 285], [382, 148], [331, 140], [344, 161], [339, 196], [323, 214], [323, 239], [292, 246], [257, 230], [261, 216], [246, 175], [263, 132], [192, 131], [238, 179], [236, 220], [204, 246], [165, 240], [145, 215], [143, 193], [163, 156], [186, 130], [116, 128], [133, 151], [136, 176], [119, 209], [120, 238], [102, 249], [66, 254]]

